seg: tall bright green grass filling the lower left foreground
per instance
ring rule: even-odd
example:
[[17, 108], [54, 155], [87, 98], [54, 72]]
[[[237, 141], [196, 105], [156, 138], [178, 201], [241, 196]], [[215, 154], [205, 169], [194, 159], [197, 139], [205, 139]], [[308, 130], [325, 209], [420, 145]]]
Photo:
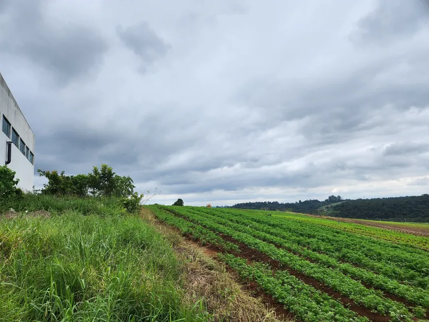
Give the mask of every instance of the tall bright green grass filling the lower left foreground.
[[[30, 211], [52, 201], [39, 198]], [[57, 202], [43, 209], [66, 212], [51, 218], [0, 218], [1, 321], [209, 321], [181, 300], [179, 262], [153, 228]]]

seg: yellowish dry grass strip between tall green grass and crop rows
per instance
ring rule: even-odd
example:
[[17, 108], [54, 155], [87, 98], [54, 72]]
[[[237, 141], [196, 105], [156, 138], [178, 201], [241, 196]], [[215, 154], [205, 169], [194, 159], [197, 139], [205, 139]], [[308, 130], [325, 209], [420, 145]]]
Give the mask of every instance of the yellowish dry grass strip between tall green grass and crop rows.
[[213, 252], [185, 241], [173, 228], [159, 223], [146, 208], [142, 218], [153, 225], [173, 245], [182, 262], [182, 284], [185, 300], [197, 303], [203, 298], [207, 310], [216, 322], [279, 322], [274, 310], [243, 289], [225, 267], [212, 259]]

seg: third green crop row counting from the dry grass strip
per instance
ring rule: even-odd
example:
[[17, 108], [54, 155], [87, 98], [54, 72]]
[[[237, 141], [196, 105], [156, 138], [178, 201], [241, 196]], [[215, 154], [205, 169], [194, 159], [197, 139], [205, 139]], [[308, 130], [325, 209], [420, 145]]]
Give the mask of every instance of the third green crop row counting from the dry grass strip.
[[[193, 211], [194, 212], [194, 211]], [[198, 214], [198, 211], [195, 211]], [[417, 287], [411, 287], [402, 285], [397, 281], [394, 281], [385, 276], [377, 275], [372, 272], [366, 271], [362, 268], [355, 267], [347, 263], [341, 263], [335, 258], [329, 257], [318, 252], [308, 250], [288, 240], [287, 234], [279, 230], [273, 230], [272, 227], [268, 227], [259, 223], [251, 222], [250, 220], [243, 219], [240, 216], [231, 216], [229, 214], [222, 214], [217, 212], [216, 216], [205, 214], [207, 219], [211, 219], [214, 222], [230, 227], [240, 232], [244, 232], [263, 240], [265, 242], [281, 246], [282, 248], [297, 253], [303, 257], [310, 259], [313, 262], [317, 262], [326, 267], [338, 269], [345, 275], [351, 276], [354, 279], [360, 280], [365, 284], [383, 289], [399, 297], [402, 297], [412, 303], [421, 305], [425, 308], [429, 308], [429, 292]]]

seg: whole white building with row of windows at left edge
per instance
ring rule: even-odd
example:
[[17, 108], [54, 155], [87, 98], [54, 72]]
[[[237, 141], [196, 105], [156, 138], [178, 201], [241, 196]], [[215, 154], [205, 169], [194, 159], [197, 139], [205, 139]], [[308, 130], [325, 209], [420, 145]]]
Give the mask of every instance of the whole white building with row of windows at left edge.
[[0, 165], [16, 172], [18, 186], [31, 191], [34, 182], [35, 135], [0, 73]]

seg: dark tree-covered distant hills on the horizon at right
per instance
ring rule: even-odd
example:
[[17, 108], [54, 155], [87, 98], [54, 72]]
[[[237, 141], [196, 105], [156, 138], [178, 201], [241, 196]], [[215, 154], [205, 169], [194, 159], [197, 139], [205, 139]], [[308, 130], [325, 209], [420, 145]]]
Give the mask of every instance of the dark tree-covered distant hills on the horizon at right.
[[429, 222], [429, 194], [357, 200], [329, 196], [324, 201], [314, 199], [300, 200], [295, 203], [247, 202], [235, 204], [230, 208], [289, 211], [344, 218]]

